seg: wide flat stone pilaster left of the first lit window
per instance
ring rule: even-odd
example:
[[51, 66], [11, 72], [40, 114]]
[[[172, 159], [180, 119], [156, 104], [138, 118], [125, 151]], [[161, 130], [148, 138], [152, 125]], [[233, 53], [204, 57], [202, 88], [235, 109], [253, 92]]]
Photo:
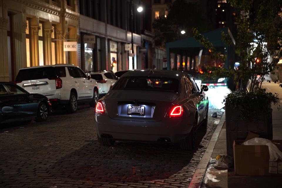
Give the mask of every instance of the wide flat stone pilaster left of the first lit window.
[[26, 17], [19, 13], [13, 16], [14, 75], [26, 67]]

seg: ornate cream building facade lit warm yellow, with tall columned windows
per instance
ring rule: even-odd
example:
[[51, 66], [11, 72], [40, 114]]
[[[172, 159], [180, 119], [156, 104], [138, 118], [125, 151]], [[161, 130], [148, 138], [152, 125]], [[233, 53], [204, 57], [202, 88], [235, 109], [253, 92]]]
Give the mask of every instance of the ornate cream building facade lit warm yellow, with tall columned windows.
[[24, 67], [78, 65], [78, 52], [63, 46], [78, 41], [78, 27], [75, 0], [0, 0], [0, 81]]

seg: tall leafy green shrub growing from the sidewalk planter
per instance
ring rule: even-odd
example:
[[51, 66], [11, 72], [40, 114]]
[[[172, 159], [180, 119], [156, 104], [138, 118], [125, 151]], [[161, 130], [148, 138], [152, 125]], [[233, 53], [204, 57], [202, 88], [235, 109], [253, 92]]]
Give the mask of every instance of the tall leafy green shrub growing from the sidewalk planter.
[[[229, 77], [236, 84], [237, 91], [229, 94], [225, 104], [242, 107], [242, 118], [250, 119], [257, 111], [270, 113], [266, 108], [272, 102], [279, 103], [278, 94], [266, 93], [262, 82], [265, 75], [271, 74], [282, 57], [281, 0], [229, 0], [236, 10], [234, 23], [237, 28], [236, 46], [239, 49], [240, 67], [207, 67], [207, 77]], [[255, 10], [255, 11], [251, 11]], [[209, 49], [214, 58], [226, 60], [208, 38], [194, 29], [194, 38]], [[226, 45], [231, 41], [226, 33], [221, 33]], [[268, 80], [268, 82], [271, 82]], [[277, 80], [273, 81], [277, 83]], [[279, 84], [282, 87], [282, 84]]]

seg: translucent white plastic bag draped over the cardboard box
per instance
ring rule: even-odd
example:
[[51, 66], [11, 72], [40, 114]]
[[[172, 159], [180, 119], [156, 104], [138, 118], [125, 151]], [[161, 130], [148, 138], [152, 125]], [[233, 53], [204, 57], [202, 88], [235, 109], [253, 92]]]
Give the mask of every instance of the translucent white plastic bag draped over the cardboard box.
[[265, 138], [252, 138], [244, 142], [243, 145], [267, 145], [269, 150], [269, 161], [282, 160], [282, 152], [275, 144]]

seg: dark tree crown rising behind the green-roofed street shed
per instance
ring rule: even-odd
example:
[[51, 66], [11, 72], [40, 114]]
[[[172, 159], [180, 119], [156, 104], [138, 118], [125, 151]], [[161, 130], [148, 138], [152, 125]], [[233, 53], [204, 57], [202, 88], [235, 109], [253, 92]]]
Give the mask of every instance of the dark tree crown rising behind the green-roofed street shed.
[[[160, 16], [153, 22], [155, 45], [165, 47], [165, 43], [178, 40], [193, 34], [192, 28], [197, 27], [200, 32], [209, 31], [211, 24], [204, 16], [199, 3], [176, 0], [169, 7], [167, 17]], [[184, 35], [180, 31], [184, 30]]]

